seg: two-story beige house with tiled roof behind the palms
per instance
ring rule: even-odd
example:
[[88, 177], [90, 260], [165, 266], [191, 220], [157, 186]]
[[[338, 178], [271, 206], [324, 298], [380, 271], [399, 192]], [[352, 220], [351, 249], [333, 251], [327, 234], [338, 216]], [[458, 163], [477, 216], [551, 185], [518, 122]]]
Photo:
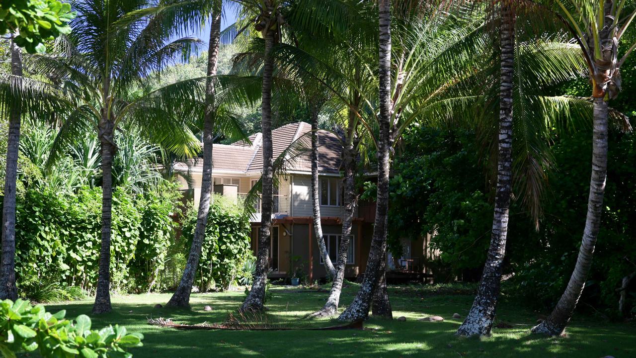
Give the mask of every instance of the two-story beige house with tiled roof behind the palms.
[[[305, 122], [283, 125], [272, 131], [273, 158], [276, 159], [291, 143], [299, 138], [310, 146], [311, 125]], [[340, 140], [328, 131], [319, 131], [319, 194], [322, 232], [335, 261], [342, 232], [342, 178], [340, 174]], [[258, 181], [263, 170], [261, 133], [253, 134], [251, 143], [240, 141], [232, 145], [215, 144], [212, 171], [214, 192], [226, 196], [247, 194]], [[298, 141], [296, 142], [298, 143]], [[187, 169], [186, 166], [177, 169]], [[201, 192], [202, 160], [191, 163], [193, 197], [198, 205]], [[272, 240], [270, 240], [270, 277], [291, 275], [290, 259], [300, 257], [310, 282], [326, 276], [314, 236], [311, 197], [311, 161], [309, 155], [301, 155], [289, 162], [286, 173], [274, 188]], [[183, 182], [182, 189], [188, 189]], [[259, 208], [251, 217], [252, 250], [258, 252], [258, 229], [261, 224]], [[373, 235], [375, 203], [361, 203], [356, 210], [352, 227], [352, 240], [347, 253], [345, 276], [356, 278], [364, 273], [366, 259]], [[416, 244], [417, 245], [417, 244]], [[421, 250], [420, 250], [421, 252]]]

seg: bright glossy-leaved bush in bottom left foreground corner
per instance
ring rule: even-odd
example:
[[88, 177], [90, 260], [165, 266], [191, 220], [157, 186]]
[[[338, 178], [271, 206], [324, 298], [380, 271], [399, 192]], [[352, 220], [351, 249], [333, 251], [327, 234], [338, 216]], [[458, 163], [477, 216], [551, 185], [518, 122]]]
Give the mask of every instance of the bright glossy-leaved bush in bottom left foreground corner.
[[64, 319], [66, 311], [52, 315], [44, 306], [8, 299], [0, 302], [0, 352], [15, 358], [15, 352], [39, 350], [42, 357], [132, 357], [126, 348], [141, 347], [142, 334], [127, 334], [125, 327], [91, 329], [90, 317]]

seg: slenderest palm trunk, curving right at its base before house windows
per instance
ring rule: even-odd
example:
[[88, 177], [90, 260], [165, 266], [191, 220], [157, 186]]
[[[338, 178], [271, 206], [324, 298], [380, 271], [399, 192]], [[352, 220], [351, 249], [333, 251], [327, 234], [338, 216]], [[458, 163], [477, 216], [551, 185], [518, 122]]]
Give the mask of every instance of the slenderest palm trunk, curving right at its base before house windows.
[[318, 110], [319, 106], [312, 105], [312, 207], [314, 208], [314, 234], [316, 241], [318, 242], [318, 249], [320, 251], [322, 262], [324, 262], [324, 269], [327, 271], [327, 275], [331, 278], [336, 276], [336, 268], [333, 267], [331, 257], [327, 251], [327, 245], [324, 243], [324, 237], [322, 236], [322, 224], [320, 215], [320, 194], [319, 194], [319, 181], [318, 181]]

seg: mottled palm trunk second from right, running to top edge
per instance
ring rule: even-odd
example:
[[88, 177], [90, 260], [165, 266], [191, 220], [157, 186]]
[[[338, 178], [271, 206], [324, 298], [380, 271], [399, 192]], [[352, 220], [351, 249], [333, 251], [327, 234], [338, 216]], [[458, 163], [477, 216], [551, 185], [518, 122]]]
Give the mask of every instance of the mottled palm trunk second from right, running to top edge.
[[499, 92], [499, 169], [497, 194], [488, 258], [473, 307], [464, 323], [457, 329], [459, 336], [485, 336], [490, 334], [499, 298], [506, 237], [508, 211], [512, 191], [513, 141], [513, 66], [515, 64], [515, 13], [510, 1], [501, 3], [501, 84]]

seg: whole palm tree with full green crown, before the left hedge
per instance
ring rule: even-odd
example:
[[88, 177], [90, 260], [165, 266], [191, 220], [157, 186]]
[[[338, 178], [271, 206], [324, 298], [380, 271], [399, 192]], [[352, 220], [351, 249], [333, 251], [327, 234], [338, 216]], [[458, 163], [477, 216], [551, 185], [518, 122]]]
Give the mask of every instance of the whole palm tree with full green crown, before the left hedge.
[[[128, 13], [147, 6], [146, 1], [74, 1], [78, 12], [71, 22], [73, 34], [57, 42], [57, 52], [34, 58], [43, 73], [64, 78], [66, 90], [76, 96], [76, 106], [60, 128], [49, 161], [55, 162], [60, 148], [97, 129], [102, 167], [102, 247], [93, 313], [111, 310], [111, 206], [114, 133], [124, 122], [141, 129], [146, 139], [181, 155], [193, 155], [198, 142], [188, 129], [196, 117], [197, 91], [202, 80], [174, 83], [141, 97], [130, 93], [143, 87], [146, 76], [160, 70], [175, 55], [188, 57], [198, 41], [179, 38], [169, 41], [172, 29], [164, 17], [149, 16], [126, 21]], [[179, 119], [177, 119], [179, 118]]]

